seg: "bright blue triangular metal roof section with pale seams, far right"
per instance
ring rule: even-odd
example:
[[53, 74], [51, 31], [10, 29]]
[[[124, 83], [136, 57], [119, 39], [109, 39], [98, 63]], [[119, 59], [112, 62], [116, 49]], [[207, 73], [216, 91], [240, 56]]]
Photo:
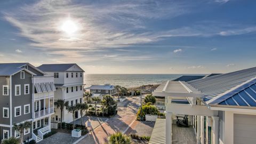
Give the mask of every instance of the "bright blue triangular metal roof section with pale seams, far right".
[[210, 102], [210, 105], [251, 106], [256, 107], [256, 78], [235, 87], [230, 92]]

